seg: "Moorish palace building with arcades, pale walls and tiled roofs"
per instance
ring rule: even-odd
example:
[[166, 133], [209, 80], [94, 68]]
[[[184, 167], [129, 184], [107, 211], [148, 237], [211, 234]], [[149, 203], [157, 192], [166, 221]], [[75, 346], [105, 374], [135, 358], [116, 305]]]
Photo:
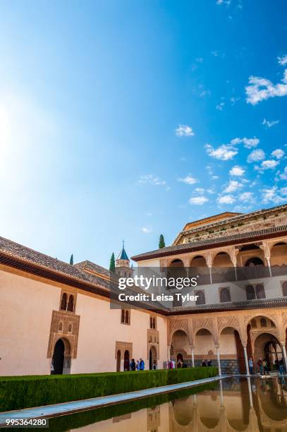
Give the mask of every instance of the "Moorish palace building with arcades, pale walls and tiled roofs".
[[[248, 357], [286, 359], [287, 205], [190, 222], [172, 246], [133, 260], [168, 277], [197, 276], [196, 301], [111, 308], [110, 272], [0, 237], [0, 375], [124, 371], [209, 359], [245, 373]], [[123, 247], [116, 272], [133, 275]]]

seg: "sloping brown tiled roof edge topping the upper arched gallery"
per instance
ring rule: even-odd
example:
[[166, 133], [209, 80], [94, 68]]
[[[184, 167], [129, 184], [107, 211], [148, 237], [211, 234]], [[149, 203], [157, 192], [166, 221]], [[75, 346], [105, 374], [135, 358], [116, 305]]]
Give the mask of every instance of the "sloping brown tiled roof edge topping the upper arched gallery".
[[137, 261], [139, 258], [145, 259], [145, 257], [152, 257], [152, 256], [165, 256], [169, 255], [169, 253], [172, 254], [172, 252], [176, 251], [185, 251], [188, 252], [192, 249], [200, 248], [201, 246], [212, 246], [216, 244], [221, 243], [228, 243], [230, 241], [236, 241], [240, 239], [244, 239], [248, 237], [256, 237], [256, 236], [263, 236], [264, 234], [274, 234], [277, 232], [287, 232], [287, 225], [279, 225], [279, 227], [269, 227], [269, 228], [263, 228], [259, 229], [257, 231], [249, 231], [249, 232], [243, 232], [238, 234], [232, 234], [231, 236], [222, 236], [222, 237], [214, 237], [213, 239], [205, 239], [205, 240], [198, 240], [198, 241], [190, 241], [185, 244], [178, 244], [173, 246], [166, 246], [165, 248], [161, 249], [154, 249], [154, 251], [149, 251], [145, 253], [140, 253], [138, 255], [132, 256], [131, 259]]

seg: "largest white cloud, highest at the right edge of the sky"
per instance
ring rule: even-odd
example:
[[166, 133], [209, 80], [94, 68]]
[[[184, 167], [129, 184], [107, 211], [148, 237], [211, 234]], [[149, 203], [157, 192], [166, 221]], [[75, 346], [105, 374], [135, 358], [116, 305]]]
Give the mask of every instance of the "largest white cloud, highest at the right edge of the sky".
[[285, 69], [281, 83], [273, 84], [266, 78], [250, 76], [248, 86], [245, 87], [246, 102], [256, 105], [269, 97], [287, 95], [287, 69]]

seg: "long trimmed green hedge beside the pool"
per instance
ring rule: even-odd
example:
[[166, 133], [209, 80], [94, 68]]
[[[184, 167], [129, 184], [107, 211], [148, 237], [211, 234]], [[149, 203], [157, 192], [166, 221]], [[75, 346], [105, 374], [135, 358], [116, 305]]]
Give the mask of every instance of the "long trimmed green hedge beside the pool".
[[115, 395], [215, 376], [217, 368], [0, 378], [0, 411]]

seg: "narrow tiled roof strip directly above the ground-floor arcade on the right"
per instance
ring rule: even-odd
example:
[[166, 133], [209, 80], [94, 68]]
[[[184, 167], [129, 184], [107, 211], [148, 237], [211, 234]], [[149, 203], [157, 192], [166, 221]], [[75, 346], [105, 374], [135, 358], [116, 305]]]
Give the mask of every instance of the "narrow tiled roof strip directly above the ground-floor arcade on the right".
[[228, 303], [216, 304], [200, 304], [197, 306], [177, 306], [169, 308], [170, 315], [180, 315], [187, 313], [204, 313], [204, 312], [219, 312], [219, 311], [240, 311], [255, 308], [274, 308], [286, 307], [287, 298], [282, 297], [278, 299], [260, 299], [248, 301], [231, 301]]

